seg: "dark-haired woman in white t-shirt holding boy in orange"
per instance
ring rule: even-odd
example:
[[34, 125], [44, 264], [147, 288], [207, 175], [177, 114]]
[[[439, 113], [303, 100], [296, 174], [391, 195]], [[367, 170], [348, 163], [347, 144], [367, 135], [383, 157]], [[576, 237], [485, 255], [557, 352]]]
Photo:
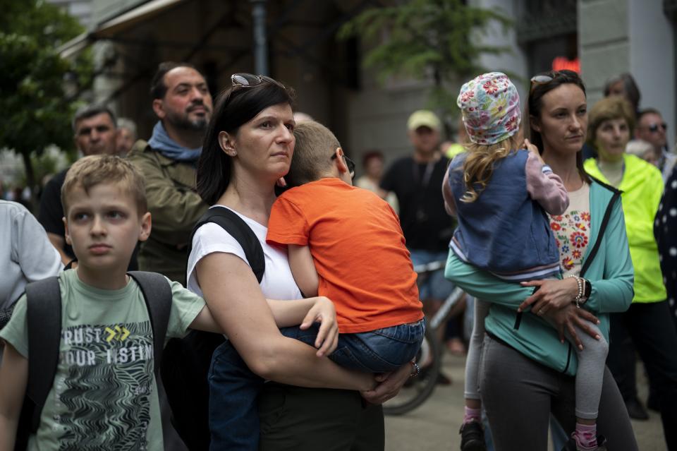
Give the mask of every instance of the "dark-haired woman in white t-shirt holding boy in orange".
[[[319, 358], [317, 349], [279, 332], [266, 299], [302, 297], [286, 252], [265, 242], [275, 185], [288, 172], [294, 150], [293, 91], [272, 78], [245, 73], [233, 74], [231, 81], [205, 136], [197, 191], [210, 205], [229, 208], [248, 224], [262, 244], [266, 267], [259, 284], [232, 236], [216, 224], [197, 229], [188, 288], [204, 295], [229, 338], [214, 352], [209, 372], [211, 449], [314, 450], [318, 443], [346, 451], [383, 449], [379, 404], [396, 395], [410, 367], [374, 380]], [[238, 435], [233, 427], [233, 416], [250, 414], [228, 407], [238, 391], [229, 386], [221, 363], [224, 356], [232, 357], [233, 347], [253, 373], [274, 381], [264, 384], [259, 399], [260, 443], [245, 437], [249, 431]], [[257, 426], [258, 421], [247, 427]]]

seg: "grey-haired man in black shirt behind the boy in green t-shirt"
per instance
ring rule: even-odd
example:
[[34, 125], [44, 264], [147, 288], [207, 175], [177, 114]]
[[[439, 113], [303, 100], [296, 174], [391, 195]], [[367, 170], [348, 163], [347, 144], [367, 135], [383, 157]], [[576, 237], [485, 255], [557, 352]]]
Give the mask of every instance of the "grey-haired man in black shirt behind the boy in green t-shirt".
[[[103, 105], [91, 104], [78, 109], [73, 117], [73, 140], [75, 148], [85, 157], [88, 155], [115, 155], [118, 130], [113, 112]], [[49, 242], [59, 251], [64, 265], [75, 258], [73, 248], [66, 243], [63, 228], [63, 205], [61, 185], [69, 168], [55, 174], [44, 186], [40, 197], [37, 219], [47, 231]], [[135, 263], [130, 266], [135, 269]]]

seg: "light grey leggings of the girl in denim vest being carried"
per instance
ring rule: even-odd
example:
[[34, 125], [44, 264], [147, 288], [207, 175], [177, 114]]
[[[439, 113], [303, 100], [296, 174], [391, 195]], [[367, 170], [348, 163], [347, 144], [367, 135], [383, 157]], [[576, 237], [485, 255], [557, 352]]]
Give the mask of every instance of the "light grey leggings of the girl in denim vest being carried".
[[[484, 340], [484, 318], [489, 314], [489, 303], [475, 299], [475, 324], [472, 327], [468, 359], [465, 361], [465, 399], [480, 399], [477, 392], [477, 373], [480, 368], [482, 340]], [[528, 313], [525, 313], [528, 314]], [[590, 326], [600, 337], [596, 340], [576, 327], [576, 335], [583, 343], [583, 351], [573, 346], [578, 355], [578, 371], [576, 372], [575, 414], [578, 418], [594, 420], [597, 418], [599, 396], [602, 394], [602, 378], [604, 362], [609, 352], [609, 344], [596, 325]], [[566, 338], [573, 344], [568, 333]]]

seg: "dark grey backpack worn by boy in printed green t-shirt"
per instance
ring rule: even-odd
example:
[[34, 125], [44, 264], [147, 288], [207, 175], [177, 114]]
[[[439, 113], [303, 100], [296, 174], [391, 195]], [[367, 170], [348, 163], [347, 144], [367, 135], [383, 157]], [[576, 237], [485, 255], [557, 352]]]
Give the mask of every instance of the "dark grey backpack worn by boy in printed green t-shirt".
[[[130, 271], [141, 288], [153, 331], [154, 371], [157, 374], [171, 311], [171, 287], [155, 272]], [[14, 449], [28, 447], [28, 437], [37, 432], [40, 414], [54, 384], [61, 342], [61, 288], [52, 276], [26, 285], [28, 320], [28, 384], [21, 407]], [[36, 327], [37, 326], [37, 327]]]

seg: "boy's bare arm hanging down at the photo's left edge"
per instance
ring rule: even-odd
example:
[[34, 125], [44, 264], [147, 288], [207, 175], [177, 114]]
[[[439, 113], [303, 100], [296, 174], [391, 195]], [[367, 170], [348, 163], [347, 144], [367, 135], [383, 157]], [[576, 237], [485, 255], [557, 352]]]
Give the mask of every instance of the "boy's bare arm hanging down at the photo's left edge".
[[11, 451], [28, 381], [28, 359], [8, 343], [0, 363], [0, 380], [0, 451]]

